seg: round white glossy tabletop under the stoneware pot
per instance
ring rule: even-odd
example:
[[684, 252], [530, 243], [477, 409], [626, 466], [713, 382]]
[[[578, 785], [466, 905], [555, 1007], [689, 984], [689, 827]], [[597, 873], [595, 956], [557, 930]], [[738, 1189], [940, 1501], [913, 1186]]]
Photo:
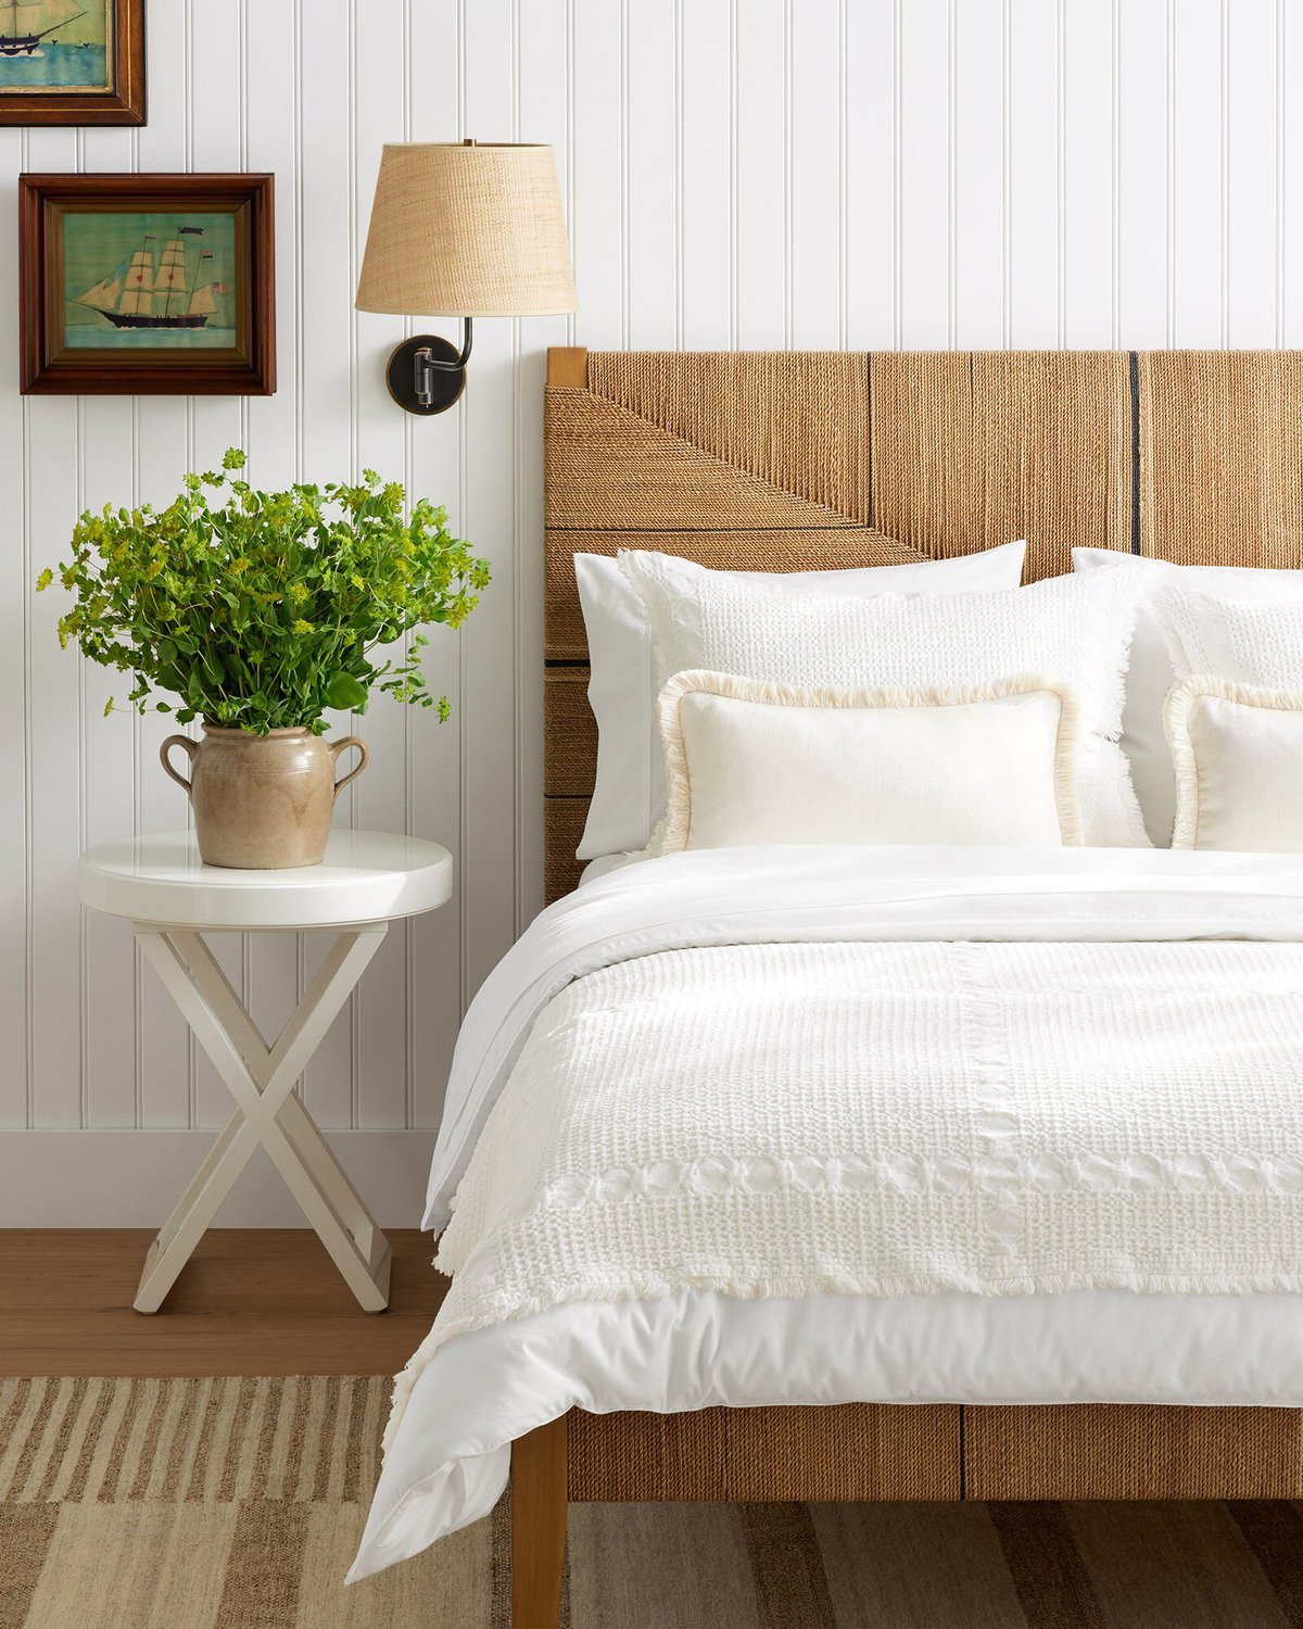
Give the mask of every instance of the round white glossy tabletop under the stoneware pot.
[[94, 911], [197, 930], [384, 922], [433, 911], [451, 891], [441, 844], [381, 831], [332, 831], [321, 865], [288, 872], [204, 865], [189, 831], [104, 842], [80, 867]]

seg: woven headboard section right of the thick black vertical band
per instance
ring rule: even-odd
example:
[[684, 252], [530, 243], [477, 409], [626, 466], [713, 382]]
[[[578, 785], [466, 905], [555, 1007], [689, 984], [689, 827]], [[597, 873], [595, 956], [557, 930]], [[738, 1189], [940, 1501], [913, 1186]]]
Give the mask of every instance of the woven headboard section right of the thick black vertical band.
[[1303, 352], [1148, 350], [1140, 551], [1303, 567]]

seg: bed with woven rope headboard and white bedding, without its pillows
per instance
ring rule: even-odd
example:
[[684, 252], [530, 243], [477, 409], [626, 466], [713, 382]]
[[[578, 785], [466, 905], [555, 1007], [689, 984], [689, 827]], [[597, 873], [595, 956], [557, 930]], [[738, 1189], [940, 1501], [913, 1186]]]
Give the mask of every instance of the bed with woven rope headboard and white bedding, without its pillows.
[[[1104, 1124], [1106, 1072], [1073, 1082], [1109, 1147], [1093, 1220], [1072, 1215], [1068, 1232], [1112, 1236], [1130, 1197], [1155, 1184], [1179, 1192], [1173, 1215], [1189, 1205], [1184, 1236], [1173, 1230], [1148, 1261], [1124, 1249], [1101, 1272], [1068, 1271], [1064, 1249], [1052, 1264], [1020, 1259], [992, 1277], [1002, 1223], [1000, 1205], [987, 1204], [994, 1256], [958, 1249], [940, 1274], [935, 1253], [907, 1271], [897, 1253], [871, 1284], [852, 1282], [834, 1248], [809, 1271], [779, 1261], [764, 1284], [752, 1262], [739, 1285], [720, 1264], [736, 1266], [738, 1246], [671, 1284], [656, 1280], [655, 1249], [643, 1259], [617, 1232], [604, 1258], [588, 1241], [583, 1271], [568, 1259], [567, 1205], [588, 1202], [591, 1184], [577, 1196], [555, 1170], [544, 1173], [546, 1202], [534, 1194], [518, 1215], [492, 1183], [472, 1184], [458, 1205], [463, 1235], [479, 1238], [464, 1205], [498, 1225], [454, 1262], [446, 1318], [399, 1381], [355, 1577], [490, 1508], [508, 1451], [516, 1629], [557, 1621], [567, 1500], [1303, 1495], [1303, 1277], [1292, 1233], [1303, 1215], [1303, 1106], [1292, 1091], [1303, 1075], [1293, 994], [1303, 863], [1138, 849], [803, 850], [775, 863], [739, 850], [668, 855], [575, 891], [596, 743], [572, 567], [578, 551], [647, 547], [723, 569], [840, 569], [1026, 536], [1029, 578], [1067, 570], [1075, 546], [1101, 544], [1298, 569], [1301, 404], [1296, 353], [549, 355], [554, 904], [463, 1031], [430, 1225], [446, 1220], [485, 1127], [505, 1139], [510, 1181], [513, 1158], [559, 1148], [581, 1122], [578, 1100], [559, 1129], [546, 1093], [528, 1090], [580, 1057], [575, 1036], [596, 1047], [583, 1057], [599, 1085], [619, 1077], [621, 1046], [647, 1039], [638, 1031], [630, 1043], [622, 1013], [638, 1003], [678, 1013], [658, 1056], [691, 1082], [702, 1067], [691, 1056], [692, 1013], [712, 990], [756, 992], [748, 1023], [730, 1033], [735, 1057], [761, 1047], [757, 1067], [772, 1059], [762, 1015], [783, 992], [801, 992], [808, 1008], [827, 990], [865, 986], [907, 994], [914, 1016], [896, 1026], [906, 1051], [927, 1028], [930, 1046], [981, 1056], [990, 1031], [974, 1047], [951, 1023], [959, 987], [964, 1021], [985, 1013], [1002, 1025], [1008, 1057], [1033, 1072], [1080, 1051], [1101, 1021], [1114, 1064], [1134, 1062], [1161, 1012], [1166, 1052], [1145, 1057], [1152, 1078], [1135, 1064], [1137, 1082], [1171, 1096], [1184, 1070], [1212, 1101], [1223, 1069], [1235, 1085], [1266, 1083], [1266, 1096], [1257, 1121], [1236, 1132], [1241, 1165], [1213, 1171], [1182, 1163], [1179, 1150], [1132, 1147], [1125, 1114]], [[1015, 1033], [1002, 992], [1038, 979], [1046, 999]], [[1075, 1002], [1060, 1002], [1060, 989]], [[1210, 992], [1228, 990], [1235, 1002], [1210, 1008]], [[730, 1008], [715, 1000], [718, 1013]], [[578, 1064], [573, 1074], [580, 1080]], [[494, 1119], [498, 1101], [511, 1114]], [[764, 1101], [743, 1091], [738, 1122]], [[513, 1124], [524, 1152], [511, 1145]], [[1046, 1147], [1070, 1144], [1059, 1126], [1039, 1134]], [[697, 1196], [709, 1205], [746, 1158], [730, 1152], [730, 1135], [736, 1126], [720, 1127], [720, 1158], [689, 1161], [687, 1178], [684, 1161], [666, 1171], [608, 1160], [617, 1191], [599, 1197], [660, 1183], [656, 1196], [679, 1196], [684, 1212]], [[528, 1160], [516, 1175], [528, 1176]], [[782, 1183], [792, 1178], [785, 1168]], [[839, 1166], [842, 1189], [870, 1178], [881, 1173]], [[893, 1236], [909, 1235], [919, 1202], [953, 1201], [956, 1215], [984, 1204], [969, 1178], [891, 1173], [906, 1218]], [[772, 1170], [748, 1168], [743, 1179], [757, 1194], [757, 1225], [770, 1225]], [[1033, 1186], [1051, 1192], [1054, 1181], [1041, 1170]], [[836, 1245], [844, 1214], [827, 1209], [826, 1171], [796, 1186], [801, 1225], [824, 1225]], [[1231, 1248], [1262, 1230], [1261, 1258]], [[559, 1293], [531, 1300], [544, 1277]], [[744, 1354], [736, 1373], [730, 1354]]]

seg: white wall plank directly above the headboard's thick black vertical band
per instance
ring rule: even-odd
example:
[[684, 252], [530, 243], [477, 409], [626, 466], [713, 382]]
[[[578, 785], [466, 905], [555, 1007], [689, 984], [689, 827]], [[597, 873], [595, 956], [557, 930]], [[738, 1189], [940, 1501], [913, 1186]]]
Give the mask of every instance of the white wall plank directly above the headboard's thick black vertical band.
[[1142, 350], [1168, 344], [1168, 0], [1112, 0], [1112, 28], [1114, 344]]

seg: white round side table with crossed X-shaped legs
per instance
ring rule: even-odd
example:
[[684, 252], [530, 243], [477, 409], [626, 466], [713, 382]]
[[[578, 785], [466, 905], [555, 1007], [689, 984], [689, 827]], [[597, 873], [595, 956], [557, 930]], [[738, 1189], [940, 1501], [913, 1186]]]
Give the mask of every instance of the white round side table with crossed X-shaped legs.
[[[453, 857], [437, 842], [373, 831], [331, 834], [326, 860], [288, 872], [204, 865], [192, 832], [127, 837], [81, 857], [81, 902], [130, 917], [235, 1114], [145, 1258], [135, 1310], [155, 1313], [254, 1148], [270, 1155], [368, 1313], [389, 1303], [389, 1241], [293, 1087], [389, 922], [445, 904]], [[311, 989], [267, 1044], [204, 943], [205, 932], [336, 933]]]

